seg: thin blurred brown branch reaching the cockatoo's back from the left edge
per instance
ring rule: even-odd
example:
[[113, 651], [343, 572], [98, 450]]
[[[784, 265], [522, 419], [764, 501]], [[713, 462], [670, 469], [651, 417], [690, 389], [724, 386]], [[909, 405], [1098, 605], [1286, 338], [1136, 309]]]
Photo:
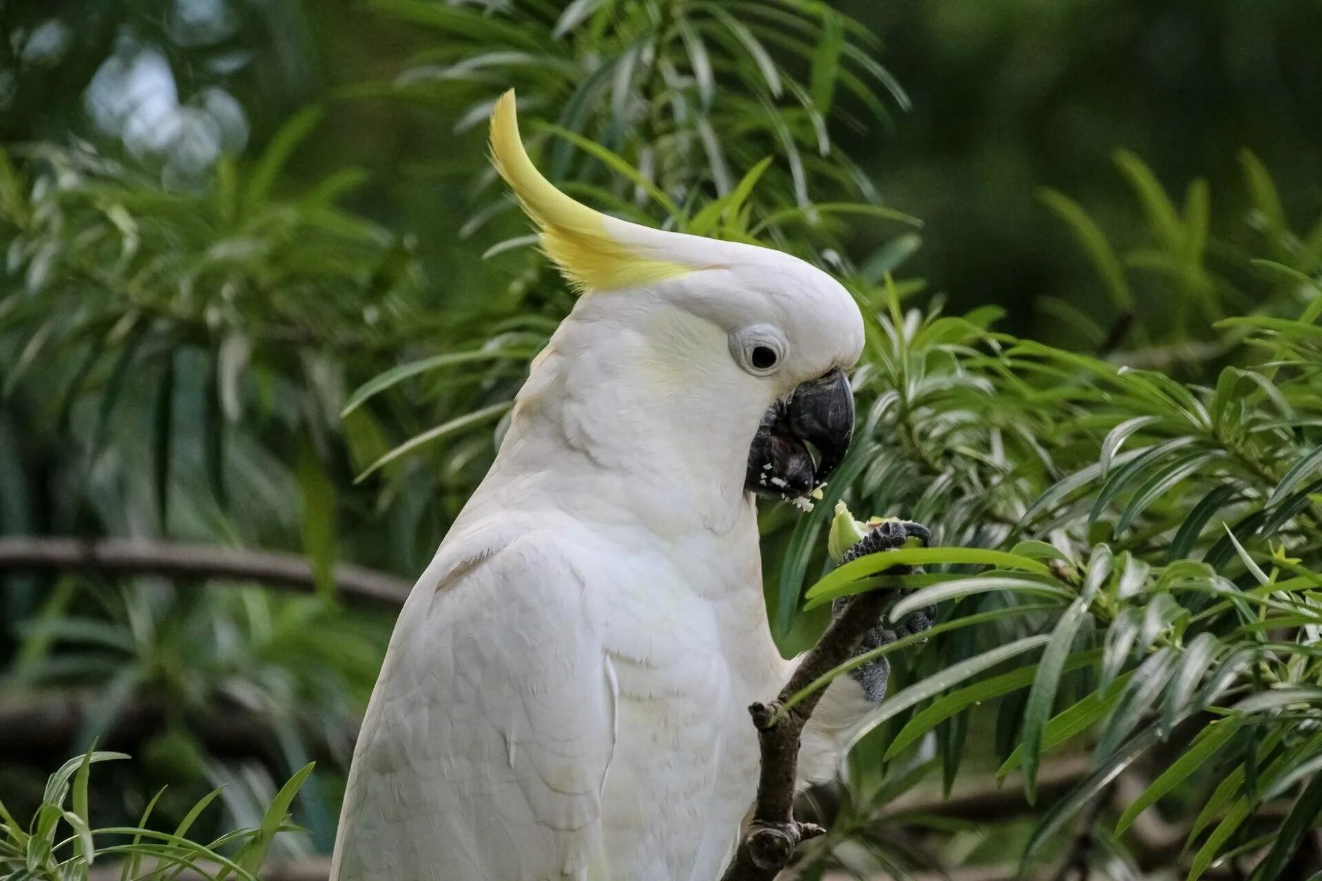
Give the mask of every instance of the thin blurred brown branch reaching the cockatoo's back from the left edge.
[[[139, 539], [0, 538], [0, 572], [71, 569], [316, 589], [312, 565], [296, 553]], [[412, 586], [393, 575], [348, 564], [334, 567], [333, 579], [346, 598], [393, 608], [403, 604]]]

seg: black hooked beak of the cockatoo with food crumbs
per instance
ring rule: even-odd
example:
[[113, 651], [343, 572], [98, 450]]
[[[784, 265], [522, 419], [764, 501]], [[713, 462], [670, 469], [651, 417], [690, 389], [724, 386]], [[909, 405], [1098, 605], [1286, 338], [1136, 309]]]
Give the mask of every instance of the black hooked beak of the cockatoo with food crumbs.
[[744, 486], [772, 498], [809, 495], [839, 465], [853, 436], [854, 394], [843, 371], [805, 382], [763, 416]]

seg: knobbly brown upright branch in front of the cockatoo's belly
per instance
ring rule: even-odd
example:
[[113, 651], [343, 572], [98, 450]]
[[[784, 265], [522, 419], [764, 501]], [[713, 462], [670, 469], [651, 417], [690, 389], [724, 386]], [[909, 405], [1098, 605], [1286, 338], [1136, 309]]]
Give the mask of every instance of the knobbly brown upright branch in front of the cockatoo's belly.
[[793, 812], [800, 740], [825, 689], [813, 692], [779, 719], [777, 713], [795, 693], [849, 660], [863, 634], [876, 626], [894, 598], [892, 590], [875, 590], [850, 600], [804, 655], [776, 700], [748, 708], [761, 749], [758, 802], [752, 823], [722, 881], [772, 881], [789, 864], [801, 841], [825, 832], [814, 823], [796, 822]]

